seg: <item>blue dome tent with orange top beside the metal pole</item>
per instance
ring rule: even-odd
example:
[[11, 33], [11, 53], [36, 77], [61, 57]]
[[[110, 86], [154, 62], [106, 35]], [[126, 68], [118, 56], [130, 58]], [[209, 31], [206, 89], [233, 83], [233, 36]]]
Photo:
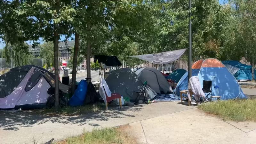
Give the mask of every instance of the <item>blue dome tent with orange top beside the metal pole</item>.
[[[212, 81], [212, 95], [221, 96], [221, 100], [244, 99], [240, 85], [228, 69], [216, 59], [198, 60], [192, 65], [192, 76], [198, 76], [201, 86], [203, 80]], [[215, 87], [215, 88], [214, 88]], [[219, 87], [219, 88], [217, 88]], [[188, 72], [180, 79], [175, 92], [180, 95], [181, 90], [188, 89]]]

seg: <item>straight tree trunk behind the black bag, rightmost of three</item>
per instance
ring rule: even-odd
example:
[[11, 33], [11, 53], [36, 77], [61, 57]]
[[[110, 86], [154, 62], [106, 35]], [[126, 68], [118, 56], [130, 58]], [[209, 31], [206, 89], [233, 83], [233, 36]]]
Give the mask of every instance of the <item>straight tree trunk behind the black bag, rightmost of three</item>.
[[87, 23], [87, 50], [86, 50], [86, 81], [87, 82], [91, 82], [92, 78], [91, 78], [91, 40], [90, 40], [90, 24]]

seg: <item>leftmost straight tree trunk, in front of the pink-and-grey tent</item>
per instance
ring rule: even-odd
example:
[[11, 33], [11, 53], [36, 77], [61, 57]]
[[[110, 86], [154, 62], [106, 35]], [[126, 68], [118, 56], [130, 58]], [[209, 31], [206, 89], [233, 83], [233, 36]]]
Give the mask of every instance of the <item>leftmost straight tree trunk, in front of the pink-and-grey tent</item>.
[[[56, 24], [54, 25], [56, 28]], [[54, 31], [53, 34], [53, 50], [54, 50], [54, 75], [55, 75], [55, 100], [54, 100], [54, 107], [55, 109], [60, 108], [60, 103], [59, 103], [59, 34], [57, 30]]]

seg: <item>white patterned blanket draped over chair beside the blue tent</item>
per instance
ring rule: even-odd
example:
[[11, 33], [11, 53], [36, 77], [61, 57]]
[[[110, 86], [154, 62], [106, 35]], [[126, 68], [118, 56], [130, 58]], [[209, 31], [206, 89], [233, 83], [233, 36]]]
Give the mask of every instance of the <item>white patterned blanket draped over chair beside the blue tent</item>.
[[196, 101], [200, 101], [200, 97], [205, 98], [204, 91], [201, 88], [201, 85], [197, 76], [190, 77], [188, 86], [189, 86], [188, 100], [191, 101], [189, 90], [192, 90], [192, 92], [194, 93], [194, 97]]

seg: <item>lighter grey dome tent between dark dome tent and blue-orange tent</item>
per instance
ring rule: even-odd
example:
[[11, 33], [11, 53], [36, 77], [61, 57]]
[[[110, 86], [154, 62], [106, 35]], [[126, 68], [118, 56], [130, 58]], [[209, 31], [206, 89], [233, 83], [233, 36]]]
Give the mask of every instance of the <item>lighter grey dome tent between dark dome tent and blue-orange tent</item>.
[[148, 81], [148, 86], [156, 93], [173, 92], [163, 74], [156, 68], [140, 68], [135, 72], [142, 82]]

